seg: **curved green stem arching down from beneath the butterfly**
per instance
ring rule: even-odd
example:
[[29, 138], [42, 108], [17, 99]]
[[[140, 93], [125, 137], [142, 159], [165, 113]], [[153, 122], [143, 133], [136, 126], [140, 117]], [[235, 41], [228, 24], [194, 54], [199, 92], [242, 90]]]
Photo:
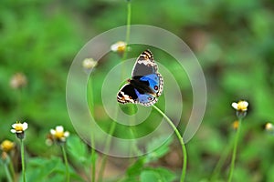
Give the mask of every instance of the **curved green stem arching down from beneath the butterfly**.
[[184, 139], [181, 136], [180, 132], [178, 131], [178, 129], [176, 128], [176, 126], [174, 126], [174, 123], [170, 120], [170, 118], [168, 116], [166, 116], [162, 110], [160, 110], [157, 106], [153, 105], [153, 108], [155, 108], [167, 121], [167, 123], [174, 129], [174, 132], [176, 134], [176, 136], [178, 137], [181, 147], [182, 147], [182, 152], [183, 152], [183, 167], [182, 167], [182, 175], [181, 175], [181, 179], [180, 182], [184, 181], [185, 178], [185, 174], [186, 174], [186, 164], [187, 164], [187, 154], [186, 154], [186, 148], [184, 145]]

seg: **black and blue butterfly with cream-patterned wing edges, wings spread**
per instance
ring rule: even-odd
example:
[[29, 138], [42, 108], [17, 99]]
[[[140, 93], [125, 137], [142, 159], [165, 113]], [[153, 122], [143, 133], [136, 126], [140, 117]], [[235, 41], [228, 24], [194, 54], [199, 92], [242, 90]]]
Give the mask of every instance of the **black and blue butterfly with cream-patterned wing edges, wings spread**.
[[158, 72], [153, 53], [145, 50], [137, 58], [132, 69], [132, 79], [121, 87], [117, 101], [152, 106], [163, 93], [163, 76]]

